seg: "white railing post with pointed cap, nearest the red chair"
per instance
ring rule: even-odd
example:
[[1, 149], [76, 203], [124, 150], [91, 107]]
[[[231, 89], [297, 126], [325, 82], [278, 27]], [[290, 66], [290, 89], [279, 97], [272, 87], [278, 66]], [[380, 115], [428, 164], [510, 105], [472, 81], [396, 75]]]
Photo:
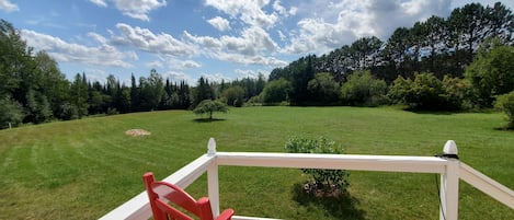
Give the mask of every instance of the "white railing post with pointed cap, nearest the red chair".
[[[207, 144], [207, 155], [216, 157], [216, 140], [214, 138], [210, 138]], [[219, 215], [219, 182], [218, 162], [216, 160], [213, 160], [207, 166], [207, 189], [213, 215], [217, 217]]]

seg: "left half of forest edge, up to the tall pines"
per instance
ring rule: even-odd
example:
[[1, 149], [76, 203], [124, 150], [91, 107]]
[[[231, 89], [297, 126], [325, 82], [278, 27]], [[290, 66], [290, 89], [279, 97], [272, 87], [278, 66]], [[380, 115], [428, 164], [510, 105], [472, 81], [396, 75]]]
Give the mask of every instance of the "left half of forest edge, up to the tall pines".
[[69, 120], [88, 115], [160, 109], [192, 109], [203, 100], [220, 99], [242, 106], [260, 94], [263, 74], [231, 82], [198, 79], [196, 86], [185, 81], [163, 79], [157, 70], [148, 77], [130, 77], [125, 84], [110, 74], [105, 82], [77, 73], [69, 81], [58, 63], [45, 51], [34, 53], [8, 21], [0, 21], [0, 128], [49, 120]]

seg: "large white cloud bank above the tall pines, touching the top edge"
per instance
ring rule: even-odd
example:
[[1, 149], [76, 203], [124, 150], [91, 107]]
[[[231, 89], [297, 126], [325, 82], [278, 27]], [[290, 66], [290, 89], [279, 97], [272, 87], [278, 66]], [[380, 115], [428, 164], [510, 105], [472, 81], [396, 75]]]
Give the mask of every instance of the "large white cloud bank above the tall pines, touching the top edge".
[[386, 40], [397, 27], [409, 27], [433, 14], [446, 16], [450, 12], [450, 0], [343, 0], [319, 5], [321, 3], [310, 1], [299, 5], [304, 19], [297, 23], [298, 31], [289, 36], [290, 42], [282, 51], [327, 53], [372, 35]]

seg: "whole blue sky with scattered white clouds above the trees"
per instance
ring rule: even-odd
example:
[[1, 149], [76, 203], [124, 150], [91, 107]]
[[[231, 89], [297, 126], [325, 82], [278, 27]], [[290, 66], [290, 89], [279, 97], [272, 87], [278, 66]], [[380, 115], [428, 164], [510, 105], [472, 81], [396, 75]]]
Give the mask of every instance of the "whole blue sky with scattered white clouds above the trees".
[[[156, 69], [195, 85], [265, 77], [359, 37], [381, 40], [469, 0], [0, 0], [0, 19], [45, 50], [69, 80], [129, 84]], [[492, 5], [494, 0], [480, 1]], [[511, 10], [514, 1], [501, 1]]]

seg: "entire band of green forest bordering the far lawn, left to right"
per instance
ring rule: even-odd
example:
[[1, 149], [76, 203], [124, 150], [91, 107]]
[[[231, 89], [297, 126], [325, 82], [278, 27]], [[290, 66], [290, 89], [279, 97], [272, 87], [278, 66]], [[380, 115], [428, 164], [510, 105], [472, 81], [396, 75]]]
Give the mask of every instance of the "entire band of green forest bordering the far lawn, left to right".
[[[505, 94], [514, 103], [514, 15], [501, 2], [470, 3], [448, 18], [433, 15], [398, 27], [387, 40], [356, 39], [328, 54], [301, 57], [270, 76], [196, 85], [157, 70], [130, 84], [87, 73], [72, 80], [45, 51], [34, 51], [0, 21], [0, 128], [89, 115], [193, 109], [203, 100], [230, 106], [402, 104], [420, 111], [490, 108]], [[514, 111], [513, 111], [514, 112]]]

